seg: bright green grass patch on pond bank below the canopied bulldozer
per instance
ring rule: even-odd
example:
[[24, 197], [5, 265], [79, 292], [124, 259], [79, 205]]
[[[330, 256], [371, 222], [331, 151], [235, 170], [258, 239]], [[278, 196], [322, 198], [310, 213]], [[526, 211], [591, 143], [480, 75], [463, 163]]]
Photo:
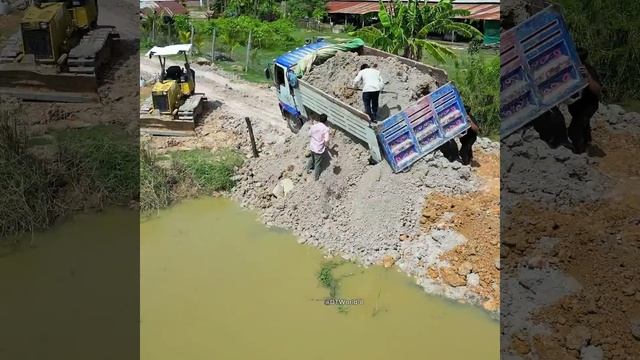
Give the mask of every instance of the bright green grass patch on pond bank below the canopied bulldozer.
[[188, 150], [155, 156], [140, 147], [140, 211], [149, 215], [184, 198], [230, 190], [244, 157], [235, 150]]

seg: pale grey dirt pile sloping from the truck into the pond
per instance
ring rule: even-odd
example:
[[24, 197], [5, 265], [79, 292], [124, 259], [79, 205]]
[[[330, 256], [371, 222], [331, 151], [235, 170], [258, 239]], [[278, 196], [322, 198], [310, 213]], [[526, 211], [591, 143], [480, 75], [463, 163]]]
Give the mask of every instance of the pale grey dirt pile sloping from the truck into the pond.
[[[307, 126], [274, 145], [271, 155], [250, 159], [237, 177], [233, 197], [259, 209], [267, 225], [290, 229], [300, 242], [364, 265], [393, 259], [418, 278], [426, 278], [427, 258], [437, 261], [437, 254], [465, 241], [454, 231], [425, 233], [419, 220], [428, 194], [463, 195], [479, 189], [482, 181], [475, 169], [433, 153], [409, 172], [393, 174], [385, 162], [368, 165], [365, 146], [333, 130], [331, 159], [316, 182], [303, 168]], [[497, 151], [497, 144], [487, 139], [479, 139], [477, 146]], [[475, 299], [467, 287], [450, 292], [432, 282], [424, 287]]]

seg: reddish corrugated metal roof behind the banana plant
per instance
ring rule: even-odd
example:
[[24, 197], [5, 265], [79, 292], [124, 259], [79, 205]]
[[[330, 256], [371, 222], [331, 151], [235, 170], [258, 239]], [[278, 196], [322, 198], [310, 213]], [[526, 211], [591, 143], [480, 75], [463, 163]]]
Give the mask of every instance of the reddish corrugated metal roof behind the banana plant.
[[[496, 2], [494, 0], [489, 0]], [[500, 3], [478, 3], [470, 4], [467, 2], [456, 2], [453, 7], [456, 9], [465, 9], [471, 12], [471, 15], [461, 17], [464, 19], [474, 20], [500, 20]], [[329, 14], [354, 14], [364, 15], [378, 12], [380, 4], [371, 1], [329, 1], [327, 3], [327, 12]]]

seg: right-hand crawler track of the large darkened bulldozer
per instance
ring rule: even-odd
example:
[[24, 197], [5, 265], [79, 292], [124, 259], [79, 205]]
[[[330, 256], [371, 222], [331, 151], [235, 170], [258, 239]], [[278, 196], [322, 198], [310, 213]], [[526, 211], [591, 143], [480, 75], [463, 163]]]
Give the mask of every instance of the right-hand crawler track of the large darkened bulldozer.
[[91, 30], [69, 52], [67, 59], [69, 72], [98, 76], [102, 65], [111, 57], [113, 40], [119, 37], [114, 27], [99, 27]]

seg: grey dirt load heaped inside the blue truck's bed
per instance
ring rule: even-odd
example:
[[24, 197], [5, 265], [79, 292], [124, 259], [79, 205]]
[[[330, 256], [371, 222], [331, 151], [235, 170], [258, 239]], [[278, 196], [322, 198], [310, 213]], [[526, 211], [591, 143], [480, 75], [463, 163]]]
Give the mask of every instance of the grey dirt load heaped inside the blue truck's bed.
[[352, 52], [337, 53], [314, 67], [303, 79], [356, 109], [364, 109], [362, 92], [350, 89], [362, 64], [378, 64], [382, 79], [388, 82], [384, 90], [389, 93], [380, 94], [380, 119], [397, 113], [437, 88], [431, 76], [395, 58], [358, 56]]

